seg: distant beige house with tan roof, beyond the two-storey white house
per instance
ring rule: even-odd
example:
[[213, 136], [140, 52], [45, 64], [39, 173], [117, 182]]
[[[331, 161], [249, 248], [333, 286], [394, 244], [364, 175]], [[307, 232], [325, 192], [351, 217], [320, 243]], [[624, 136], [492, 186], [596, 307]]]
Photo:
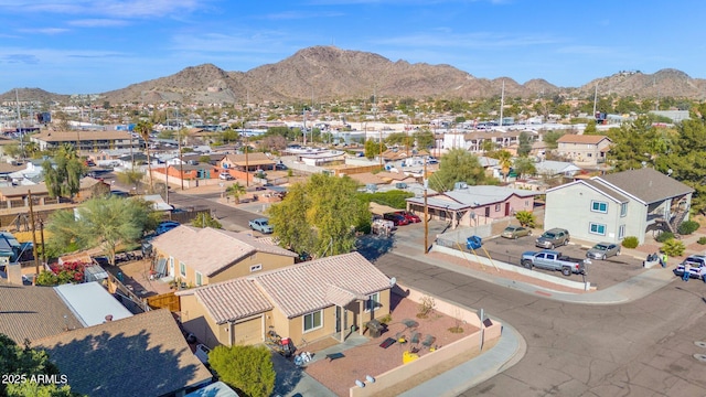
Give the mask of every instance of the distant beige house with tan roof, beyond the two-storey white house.
[[556, 152], [581, 167], [598, 165], [606, 162], [606, 153], [612, 141], [600, 135], [567, 133], [557, 139]]

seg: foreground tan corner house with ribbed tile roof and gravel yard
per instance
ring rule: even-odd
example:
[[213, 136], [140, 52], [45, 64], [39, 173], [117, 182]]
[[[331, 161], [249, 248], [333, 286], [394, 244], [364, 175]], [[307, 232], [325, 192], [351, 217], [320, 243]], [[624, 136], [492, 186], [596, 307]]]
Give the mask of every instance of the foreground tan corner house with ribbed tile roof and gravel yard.
[[[269, 330], [295, 345], [389, 314], [391, 279], [359, 253], [176, 292], [185, 330], [213, 347], [257, 344]], [[341, 339], [346, 332], [341, 332]]]

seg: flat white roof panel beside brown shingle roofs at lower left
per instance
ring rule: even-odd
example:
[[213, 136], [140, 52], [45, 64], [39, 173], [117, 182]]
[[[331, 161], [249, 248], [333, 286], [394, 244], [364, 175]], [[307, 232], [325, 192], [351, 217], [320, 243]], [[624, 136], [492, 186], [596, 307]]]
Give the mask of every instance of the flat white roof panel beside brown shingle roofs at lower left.
[[96, 281], [62, 285], [54, 287], [54, 290], [84, 326], [103, 324], [108, 314], [113, 315], [114, 321], [132, 316]]

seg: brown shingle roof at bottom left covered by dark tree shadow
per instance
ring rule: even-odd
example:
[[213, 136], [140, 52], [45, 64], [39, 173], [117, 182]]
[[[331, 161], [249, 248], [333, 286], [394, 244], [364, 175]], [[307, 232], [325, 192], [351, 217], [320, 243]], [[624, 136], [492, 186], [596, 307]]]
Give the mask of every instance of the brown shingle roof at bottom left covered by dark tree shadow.
[[163, 396], [212, 379], [169, 310], [34, 341], [89, 396]]

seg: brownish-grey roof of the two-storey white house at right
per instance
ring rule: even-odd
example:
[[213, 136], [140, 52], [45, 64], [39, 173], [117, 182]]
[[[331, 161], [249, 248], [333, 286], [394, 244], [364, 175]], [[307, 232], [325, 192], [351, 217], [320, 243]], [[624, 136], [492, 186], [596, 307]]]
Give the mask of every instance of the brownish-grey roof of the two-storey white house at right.
[[694, 192], [694, 189], [688, 185], [651, 168], [597, 176], [596, 181], [617, 187], [645, 204]]

